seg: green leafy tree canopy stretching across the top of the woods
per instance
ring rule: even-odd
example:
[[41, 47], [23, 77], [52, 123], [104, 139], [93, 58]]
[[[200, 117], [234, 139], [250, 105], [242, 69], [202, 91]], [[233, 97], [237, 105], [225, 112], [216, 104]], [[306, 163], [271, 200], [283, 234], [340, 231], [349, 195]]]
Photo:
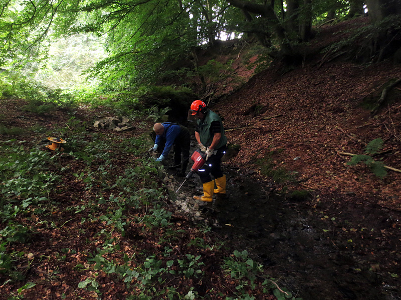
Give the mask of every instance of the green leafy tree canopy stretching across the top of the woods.
[[[374, 24], [392, 17], [391, 30], [374, 36], [375, 49], [393, 53], [400, 37], [400, 0], [3, 0], [0, 13], [2, 67], [41, 67], [57, 38], [92, 33], [104, 37], [106, 56], [90, 67], [105, 89], [135, 89], [160, 78], [180, 77], [171, 68], [189, 59], [196, 71], [196, 49], [219, 44], [226, 36], [254, 37], [268, 55], [299, 57], [299, 45], [314, 36], [313, 26], [361, 15]], [[395, 25], [394, 25], [395, 24]], [[379, 25], [378, 25], [379, 26]], [[399, 30], [398, 30], [399, 31]], [[391, 34], [388, 34], [388, 33]], [[377, 41], [380, 41], [377, 43]], [[381, 53], [381, 54], [379, 54]], [[297, 61], [290, 59], [290, 61]], [[35, 63], [33, 63], [35, 62]]]

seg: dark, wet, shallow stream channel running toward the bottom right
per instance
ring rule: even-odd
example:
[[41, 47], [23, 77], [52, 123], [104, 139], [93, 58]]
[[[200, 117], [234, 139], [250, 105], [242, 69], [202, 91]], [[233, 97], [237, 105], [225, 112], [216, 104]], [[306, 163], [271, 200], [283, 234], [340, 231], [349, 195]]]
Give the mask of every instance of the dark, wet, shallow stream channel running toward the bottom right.
[[[214, 232], [236, 249], [247, 249], [281, 287], [304, 300], [401, 299], [399, 281], [385, 280], [372, 270], [366, 253], [350, 246], [348, 237], [334, 232], [330, 236], [324, 213], [307, 202], [269, 194], [265, 185], [238, 170], [225, 171], [228, 196], [215, 195], [213, 203], [199, 211], [215, 223]], [[196, 177], [181, 192], [202, 193]], [[367, 213], [366, 207], [352, 207], [341, 215], [357, 224]], [[387, 211], [381, 213], [388, 217]]]

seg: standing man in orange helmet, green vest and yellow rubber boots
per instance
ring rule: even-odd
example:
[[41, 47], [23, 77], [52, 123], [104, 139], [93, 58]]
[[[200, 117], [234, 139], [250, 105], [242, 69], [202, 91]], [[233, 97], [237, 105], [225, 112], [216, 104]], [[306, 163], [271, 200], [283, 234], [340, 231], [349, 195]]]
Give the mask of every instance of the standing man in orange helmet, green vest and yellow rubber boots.
[[[198, 170], [203, 183], [204, 195], [193, 196], [195, 200], [211, 202], [213, 194], [226, 194], [226, 175], [221, 169], [221, 161], [227, 149], [227, 138], [220, 116], [206, 107], [205, 102], [192, 102], [188, 116], [196, 119], [195, 138], [201, 151], [206, 153], [206, 163]], [[211, 175], [215, 178], [212, 180]], [[215, 181], [217, 188], [215, 189]]]

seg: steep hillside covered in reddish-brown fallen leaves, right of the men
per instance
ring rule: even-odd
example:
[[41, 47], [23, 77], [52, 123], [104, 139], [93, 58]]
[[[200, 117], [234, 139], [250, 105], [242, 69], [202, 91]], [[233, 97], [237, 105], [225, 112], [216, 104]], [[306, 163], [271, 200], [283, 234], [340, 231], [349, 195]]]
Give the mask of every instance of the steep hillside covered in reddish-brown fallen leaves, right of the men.
[[[315, 46], [344, 38], [347, 29], [366, 20], [320, 28]], [[389, 80], [401, 77], [401, 65], [322, 63], [323, 57], [316, 55], [284, 74], [280, 66], [269, 68], [213, 107], [224, 117], [229, 141], [241, 145], [227, 163], [256, 170], [267, 181], [272, 181], [263, 169], [267, 162], [292, 172], [293, 180], [276, 182], [273, 188], [290, 184], [292, 190], [309, 191], [313, 201], [336, 206], [369, 201], [401, 210], [400, 172], [387, 169], [380, 179], [363, 163], [347, 165], [351, 156], [339, 154], [362, 154], [367, 143], [381, 138], [383, 147], [373, 158], [401, 168], [401, 84], [377, 114], [370, 113]]]

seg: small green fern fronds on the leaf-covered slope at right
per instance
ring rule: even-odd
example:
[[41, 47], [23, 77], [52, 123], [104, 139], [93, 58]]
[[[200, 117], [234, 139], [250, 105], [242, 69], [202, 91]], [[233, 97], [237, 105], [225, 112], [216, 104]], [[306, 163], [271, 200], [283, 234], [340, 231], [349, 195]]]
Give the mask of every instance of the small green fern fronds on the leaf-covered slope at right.
[[[383, 140], [381, 138], [375, 138], [371, 140], [365, 147], [365, 153], [373, 155], [378, 152], [383, 146]], [[379, 178], [383, 178], [387, 171], [384, 168], [384, 164], [381, 161], [375, 161], [370, 155], [358, 154], [352, 156], [351, 160], [347, 162], [348, 165], [356, 165], [359, 162], [363, 162], [367, 167]]]

